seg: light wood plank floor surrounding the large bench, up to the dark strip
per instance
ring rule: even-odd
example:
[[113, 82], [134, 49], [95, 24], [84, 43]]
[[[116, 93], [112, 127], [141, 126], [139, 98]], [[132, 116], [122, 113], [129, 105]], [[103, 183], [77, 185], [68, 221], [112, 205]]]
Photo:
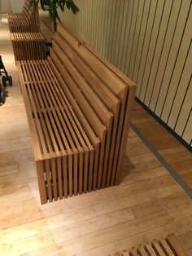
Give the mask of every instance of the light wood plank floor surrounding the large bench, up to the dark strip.
[[6, 20], [0, 54], [14, 85], [0, 107], [0, 255], [108, 255], [174, 232], [192, 255], [192, 201], [130, 130], [122, 183], [40, 205]]

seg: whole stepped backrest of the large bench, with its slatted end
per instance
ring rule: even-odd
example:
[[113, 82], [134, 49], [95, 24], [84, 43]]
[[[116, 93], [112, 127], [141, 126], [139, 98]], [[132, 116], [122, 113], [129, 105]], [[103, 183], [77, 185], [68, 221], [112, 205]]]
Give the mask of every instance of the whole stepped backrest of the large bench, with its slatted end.
[[97, 188], [119, 183], [135, 85], [63, 25], [55, 33], [49, 61], [77, 103], [89, 106], [86, 118], [96, 115], [107, 129], [106, 141], [101, 141]]

